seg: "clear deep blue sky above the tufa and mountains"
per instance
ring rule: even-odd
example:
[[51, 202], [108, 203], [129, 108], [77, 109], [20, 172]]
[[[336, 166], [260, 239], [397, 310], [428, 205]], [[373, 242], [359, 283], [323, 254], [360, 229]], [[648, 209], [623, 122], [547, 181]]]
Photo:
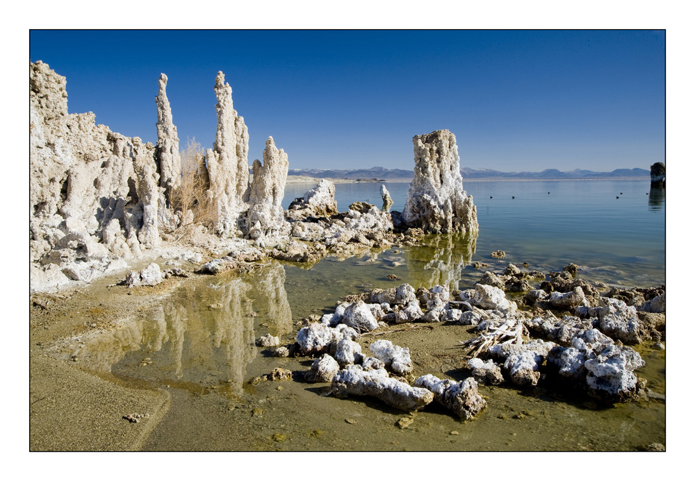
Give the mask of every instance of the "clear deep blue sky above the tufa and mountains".
[[664, 31], [31, 31], [70, 112], [156, 142], [167, 74], [181, 146], [215, 137], [215, 75], [291, 168], [412, 169], [448, 128], [461, 167], [648, 169], [664, 161]]

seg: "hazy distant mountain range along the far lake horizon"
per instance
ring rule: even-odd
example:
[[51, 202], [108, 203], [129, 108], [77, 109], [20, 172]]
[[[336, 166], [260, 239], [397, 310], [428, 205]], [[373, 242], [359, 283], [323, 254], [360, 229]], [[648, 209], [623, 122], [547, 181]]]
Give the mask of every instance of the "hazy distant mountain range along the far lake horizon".
[[[384, 169], [384, 167], [372, 167], [371, 169], [289, 169], [290, 176], [307, 176], [314, 178], [364, 178], [364, 179], [403, 179], [413, 178], [412, 170]], [[546, 169], [541, 172], [500, 172], [493, 169], [461, 169], [464, 180], [469, 178], [516, 178], [516, 179], [597, 179], [597, 178], [634, 178], [649, 177], [647, 169], [615, 169], [611, 172], [596, 172], [592, 170], [574, 169], [562, 172], [557, 169]]]

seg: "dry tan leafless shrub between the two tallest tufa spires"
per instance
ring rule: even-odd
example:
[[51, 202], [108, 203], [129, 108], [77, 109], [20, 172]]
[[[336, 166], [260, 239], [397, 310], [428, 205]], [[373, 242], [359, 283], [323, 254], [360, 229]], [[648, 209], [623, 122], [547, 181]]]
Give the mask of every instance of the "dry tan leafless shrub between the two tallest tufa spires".
[[209, 187], [203, 149], [194, 137], [181, 151], [181, 178], [171, 192], [174, 242], [190, 240], [197, 226], [215, 221], [217, 214], [207, 195]]

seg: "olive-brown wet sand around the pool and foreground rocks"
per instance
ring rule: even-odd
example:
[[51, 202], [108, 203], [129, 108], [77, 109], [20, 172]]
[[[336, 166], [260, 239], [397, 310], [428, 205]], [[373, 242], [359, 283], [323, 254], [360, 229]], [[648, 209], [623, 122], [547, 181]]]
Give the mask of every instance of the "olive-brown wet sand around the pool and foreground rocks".
[[[152, 307], [161, 308], [177, 287], [195, 289], [211, 279], [223, 280], [193, 276], [165, 280], [156, 287], [108, 287], [122, 277], [111, 276], [60, 294], [66, 298], [33, 296], [31, 450], [635, 450], [647, 441], [665, 444], [661, 403], [650, 403], [654, 417], [645, 423], [636, 421], [647, 412], [641, 403], [596, 410], [591, 401], [563, 399], [543, 389], [480, 386], [488, 407], [473, 421], [461, 423], [436, 405], [407, 414], [371, 398], [324, 396], [330, 391], [329, 383], [298, 380], [250, 386], [248, 380], [275, 367], [302, 372], [313, 361], [270, 357], [261, 348], [245, 368], [241, 395], [230, 391], [225, 382], [169, 385], [168, 381], [90, 372], [79, 359], [70, 360], [70, 351], [67, 360], [60, 360], [56, 353], [69, 344], [65, 339], [85, 339], [99, 331], [119, 335], [125, 319], [147, 318]], [[300, 328], [295, 323], [313, 313], [302, 306], [312, 305], [310, 297], [316, 293], [304, 296], [291, 301], [293, 327], [281, 337], [283, 344], [291, 342]], [[270, 313], [267, 319], [263, 315], [254, 319], [256, 338], [275, 334], [267, 322]], [[414, 330], [391, 326], [395, 332], [389, 335], [365, 334], [360, 339], [363, 352], [375, 339], [389, 339], [409, 347], [416, 376], [467, 377], [466, 369], [461, 369], [466, 358], [459, 341], [473, 336], [470, 326], [416, 326]], [[186, 333], [186, 338], [191, 334]], [[133, 354], [136, 359], [143, 355]], [[663, 352], [646, 349], [643, 355], [650, 357], [651, 369], [662, 369]], [[137, 365], [132, 369], [138, 369]], [[665, 386], [653, 388], [663, 391]], [[123, 419], [133, 413], [149, 417], [139, 423]], [[412, 423], [401, 429], [398, 421], [404, 417]]]

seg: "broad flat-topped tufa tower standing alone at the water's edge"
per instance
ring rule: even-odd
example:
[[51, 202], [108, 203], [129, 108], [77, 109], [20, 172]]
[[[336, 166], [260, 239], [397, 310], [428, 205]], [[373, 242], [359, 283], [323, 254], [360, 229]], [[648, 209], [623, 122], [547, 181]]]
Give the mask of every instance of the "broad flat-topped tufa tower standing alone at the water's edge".
[[478, 230], [473, 196], [463, 188], [456, 137], [435, 130], [413, 137], [415, 177], [410, 183], [402, 219], [429, 233], [473, 233]]

